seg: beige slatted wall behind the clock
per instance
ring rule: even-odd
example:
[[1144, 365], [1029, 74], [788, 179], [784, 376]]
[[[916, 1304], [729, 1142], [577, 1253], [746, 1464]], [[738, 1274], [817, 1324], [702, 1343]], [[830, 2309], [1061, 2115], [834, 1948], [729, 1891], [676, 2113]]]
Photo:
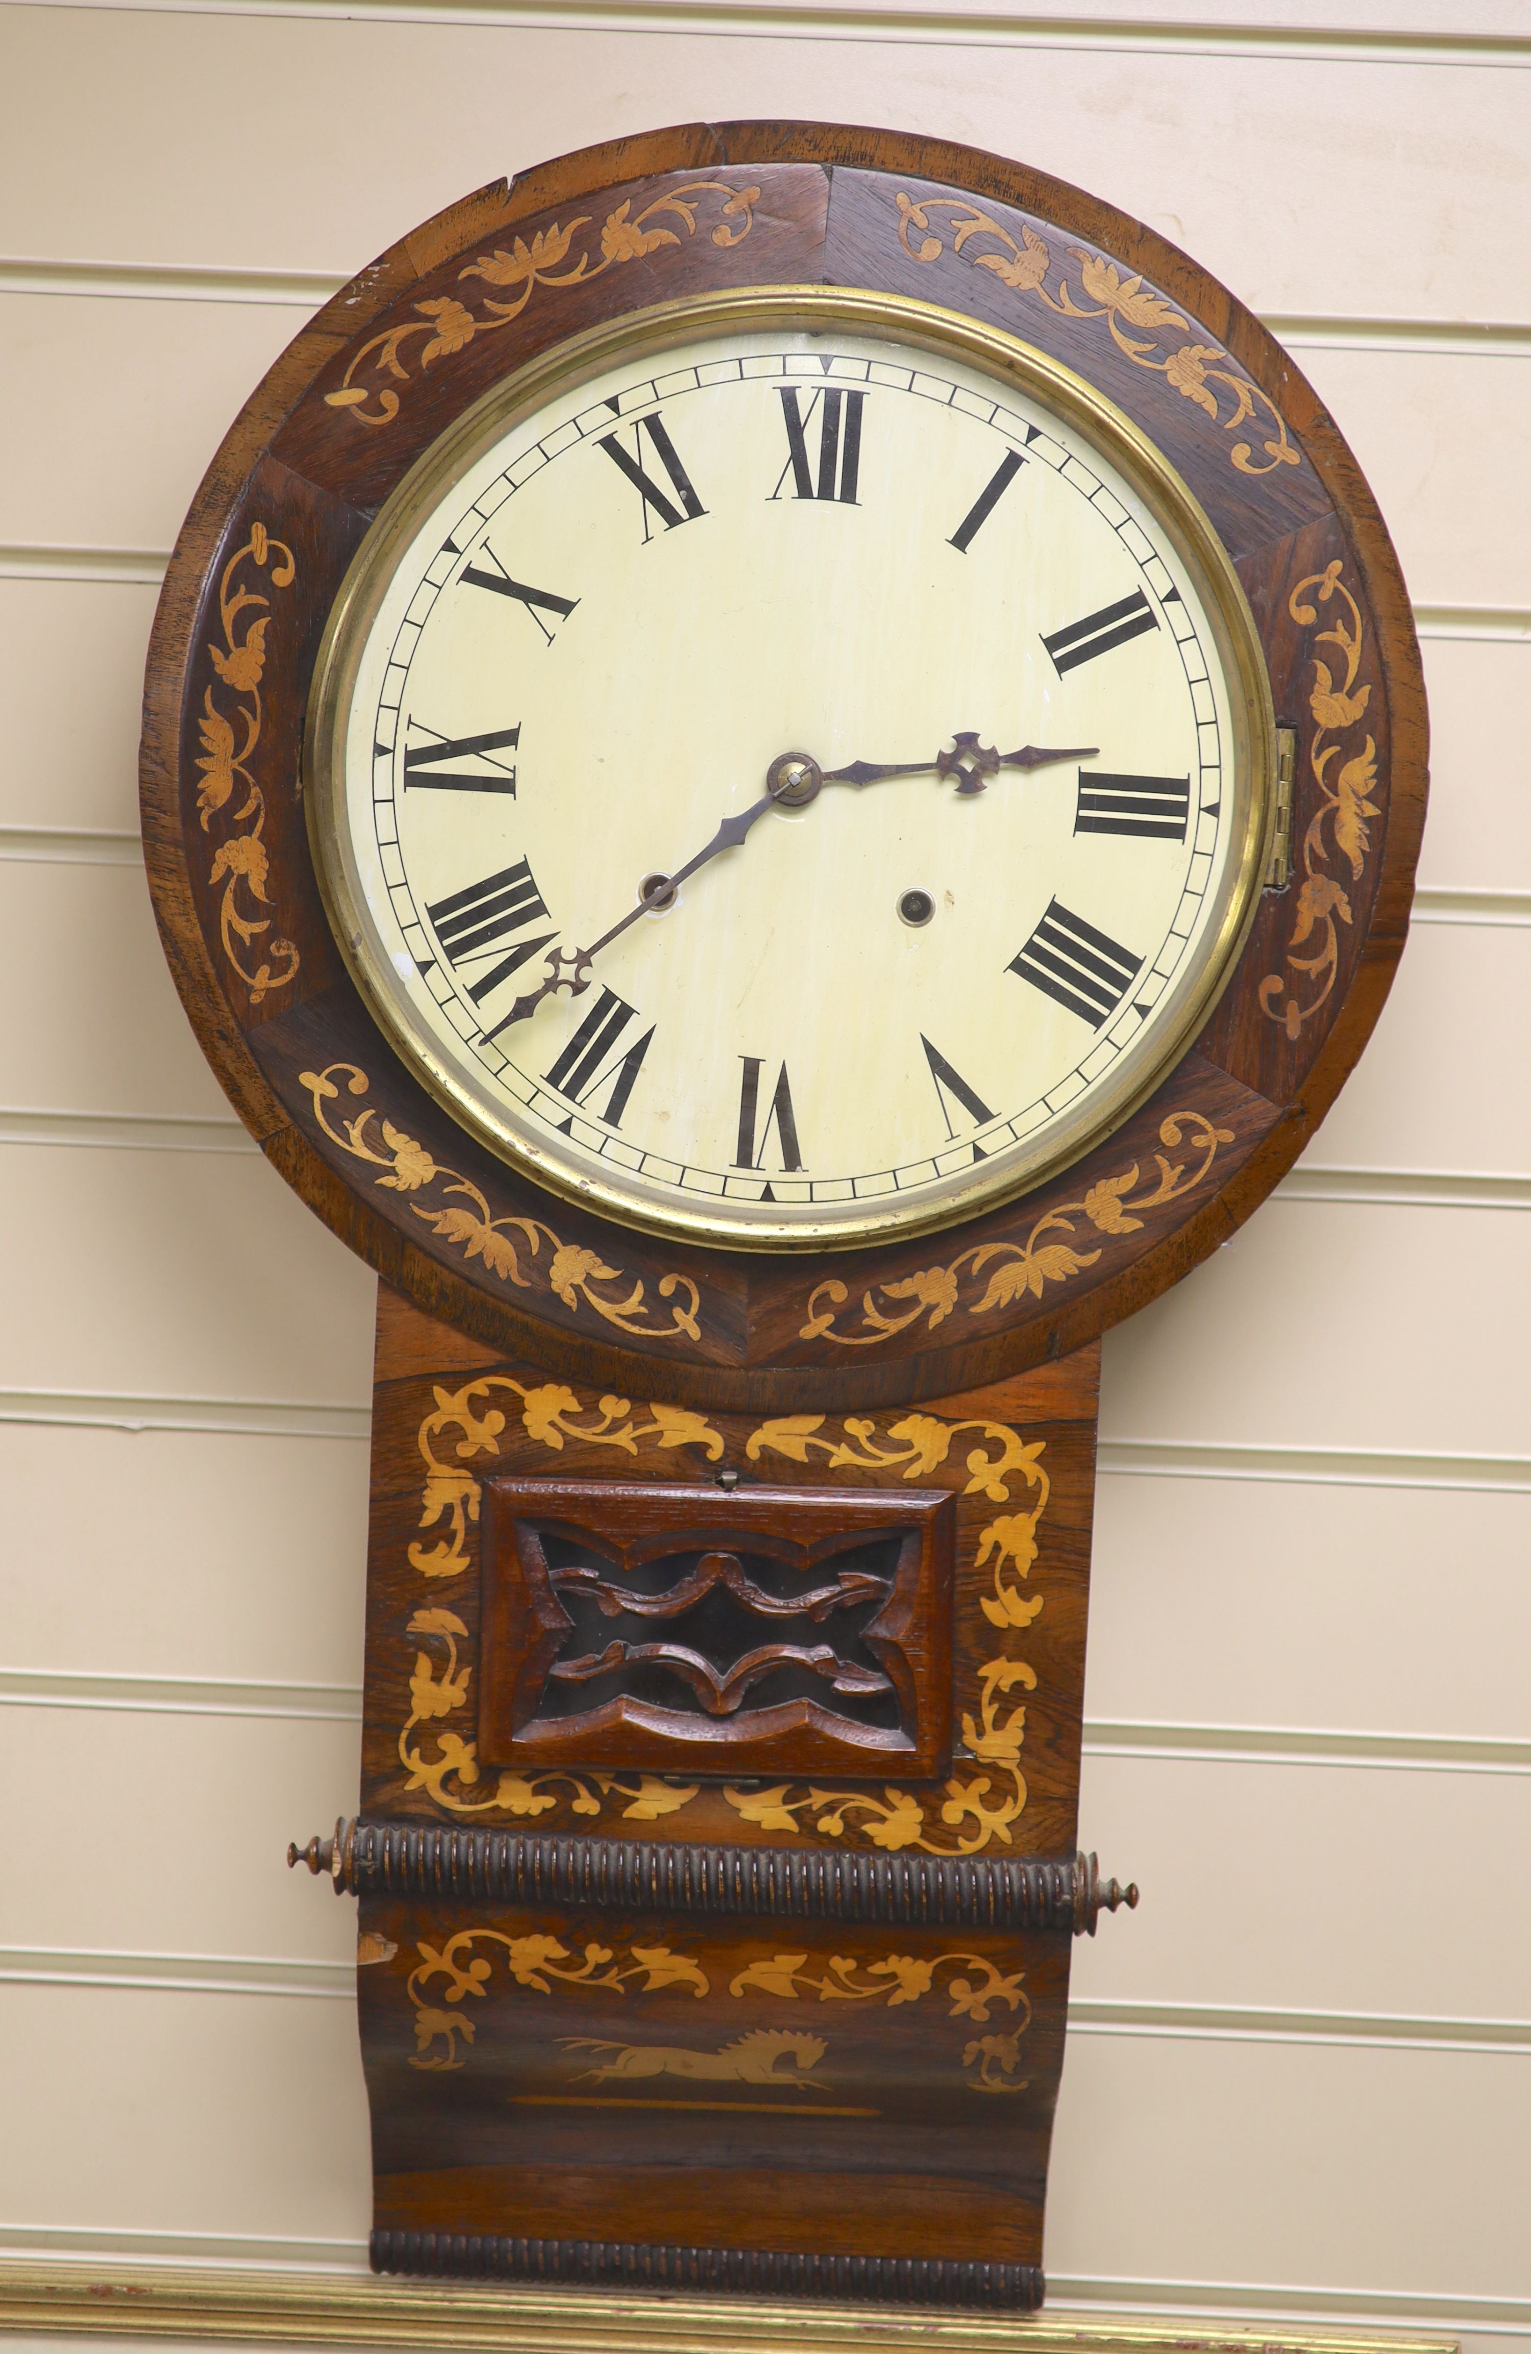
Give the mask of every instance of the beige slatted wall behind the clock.
[[360, 2265], [367, 2222], [351, 1911], [280, 1857], [353, 1801], [372, 1278], [160, 963], [163, 551], [417, 219], [782, 113], [1164, 228], [1397, 534], [1437, 800], [1394, 1000], [1303, 1168], [1107, 1344], [1083, 1824], [1145, 1904], [1079, 1954], [1048, 2272], [1531, 2335], [1529, 68], [1529, 0], [0, 7], [0, 2248]]

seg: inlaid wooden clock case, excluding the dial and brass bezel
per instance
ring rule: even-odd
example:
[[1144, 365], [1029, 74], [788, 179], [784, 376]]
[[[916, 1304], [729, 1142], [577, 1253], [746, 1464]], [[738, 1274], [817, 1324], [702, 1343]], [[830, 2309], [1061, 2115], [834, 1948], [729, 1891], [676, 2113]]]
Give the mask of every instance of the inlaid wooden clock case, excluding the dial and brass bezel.
[[[459, 1130], [346, 975], [301, 796], [330, 605], [415, 459], [558, 341], [754, 285], [914, 297], [1088, 379], [1211, 518], [1295, 734], [1291, 880], [1154, 1095], [963, 1226], [820, 1257], [603, 1222]], [[212, 1066], [384, 1278], [363, 1815], [309, 1846], [360, 1895], [379, 2267], [1041, 2298], [1069, 1937], [1121, 1900], [1074, 1853], [1098, 1337], [1361, 1052], [1425, 746], [1397, 558], [1286, 353], [1164, 238], [970, 148], [692, 125], [561, 158], [391, 247], [245, 405], [160, 598], [144, 838]], [[810, 1540], [761, 1554], [735, 1483]], [[796, 1702], [740, 1697], [749, 1643], [794, 1645]]]

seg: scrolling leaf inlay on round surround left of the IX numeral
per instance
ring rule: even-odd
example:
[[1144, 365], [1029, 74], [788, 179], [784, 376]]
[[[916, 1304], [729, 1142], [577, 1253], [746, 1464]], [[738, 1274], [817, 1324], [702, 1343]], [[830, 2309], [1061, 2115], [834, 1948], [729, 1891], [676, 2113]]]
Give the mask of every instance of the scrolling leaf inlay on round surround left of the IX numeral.
[[271, 626], [271, 598], [250, 588], [240, 579], [240, 567], [252, 563], [257, 572], [271, 565], [271, 586], [290, 588], [297, 579], [297, 560], [283, 539], [271, 539], [264, 523], [250, 525], [250, 539], [224, 565], [219, 577], [219, 629], [224, 643], [207, 640], [207, 657], [224, 687], [233, 694], [233, 718], [212, 687], [203, 690], [198, 734], [203, 751], [198, 770], [198, 817], [203, 833], [210, 819], [224, 810], [236, 789], [243, 791], [238, 810], [228, 824], [243, 831], [226, 833], [212, 859], [210, 885], [224, 885], [219, 904], [219, 937], [224, 956], [250, 991], [250, 1003], [259, 1005], [271, 989], [285, 989], [301, 958], [290, 939], [271, 939], [269, 916], [243, 913], [240, 892], [257, 909], [271, 906], [266, 883], [271, 878], [271, 852], [261, 840], [266, 826], [266, 796], [254, 782], [252, 760], [261, 742], [264, 704], [261, 678], [266, 673], [266, 631]]

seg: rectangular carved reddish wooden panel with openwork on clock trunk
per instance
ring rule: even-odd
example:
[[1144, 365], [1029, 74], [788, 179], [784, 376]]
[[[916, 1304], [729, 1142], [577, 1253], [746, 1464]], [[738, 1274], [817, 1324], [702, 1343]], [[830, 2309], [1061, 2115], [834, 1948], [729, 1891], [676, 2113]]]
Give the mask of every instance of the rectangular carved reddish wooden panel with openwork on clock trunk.
[[935, 1775], [954, 1537], [942, 1490], [490, 1478], [478, 1754]]

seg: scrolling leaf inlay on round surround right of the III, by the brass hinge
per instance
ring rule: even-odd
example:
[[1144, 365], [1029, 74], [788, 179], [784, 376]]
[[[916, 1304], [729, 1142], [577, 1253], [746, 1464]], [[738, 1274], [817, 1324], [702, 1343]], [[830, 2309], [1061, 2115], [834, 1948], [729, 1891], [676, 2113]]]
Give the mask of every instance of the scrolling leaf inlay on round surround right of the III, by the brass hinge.
[[[1371, 687], [1357, 687], [1366, 626], [1361, 607], [1340, 579], [1343, 570], [1343, 560], [1336, 558], [1324, 572], [1310, 572], [1307, 579], [1300, 579], [1286, 600], [1293, 621], [1300, 621], [1305, 629], [1312, 629], [1319, 619], [1319, 605], [1328, 605], [1336, 596], [1345, 598], [1350, 610], [1350, 619], [1336, 612], [1333, 629], [1324, 629], [1314, 638], [1314, 645], [1338, 647], [1345, 661], [1345, 678], [1336, 685], [1333, 671], [1314, 652], [1307, 709], [1317, 725], [1307, 746], [1307, 765], [1319, 786], [1319, 807], [1303, 833], [1303, 890], [1298, 892], [1298, 918], [1286, 942], [1288, 972], [1300, 972], [1303, 979], [1288, 989], [1284, 972], [1267, 972], [1260, 982], [1260, 1010], [1272, 1022], [1279, 1022], [1288, 1038], [1300, 1038], [1303, 1024], [1312, 1022], [1333, 996], [1340, 972], [1340, 935], [1336, 925], [1354, 923], [1345, 887], [1326, 871], [1331, 819], [1333, 850], [1350, 862], [1350, 880], [1359, 883], [1366, 871], [1366, 852], [1371, 850], [1371, 826], [1366, 822], [1383, 814], [1380, 803], [1371, 798], [1378, 789], [1376, 737], [1368, 734], [1361, 751], [1352, 751], [1347, 760], [1340, 760], [1345, 749], [1340, 737], [1361, 723], [1371, 701]], [[1317, 600], [1307, 598], [1310, 588], [1317, 588]], [[1354, 744], [1354, 737], [1350, 742]], [[1336, 760], [1340, 760], [1340, 770], [1331, 777]], [[1312, 953], [1295, 956], [1293, 951], [1305, 942], [1314, 942]], [[1307, 996], [1300, 996], [1300, 991], [1307, 991]]]

